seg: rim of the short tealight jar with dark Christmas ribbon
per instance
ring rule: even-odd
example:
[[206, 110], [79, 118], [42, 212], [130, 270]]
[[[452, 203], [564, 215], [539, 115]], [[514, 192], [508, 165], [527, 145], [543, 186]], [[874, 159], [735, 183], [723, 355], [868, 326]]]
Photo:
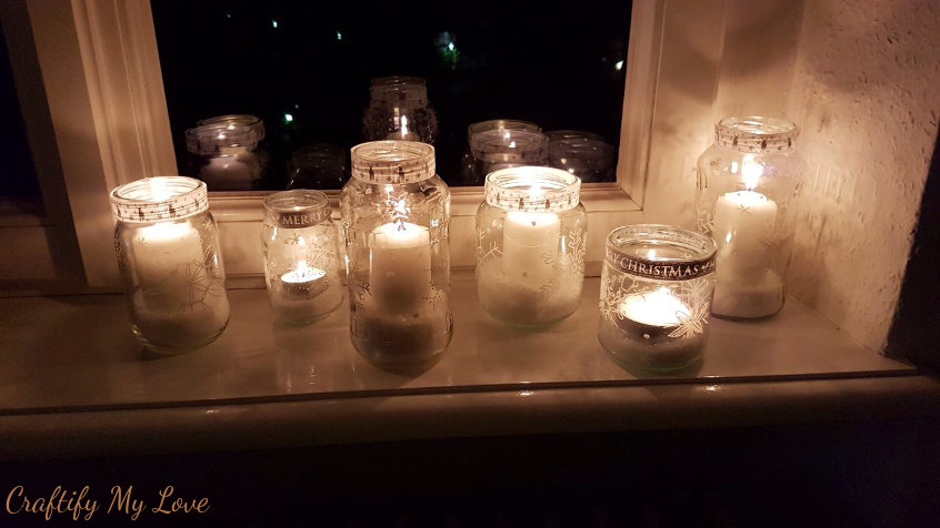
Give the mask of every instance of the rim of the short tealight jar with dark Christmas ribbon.
[[[714, 272], [718, 244], [710, 236], [678, 225], [632, 224], [611, 231], [606, 250], [607, 263], [623, 273], [687, 281]], [[663, 254], [662, 250], [668, 251]]]

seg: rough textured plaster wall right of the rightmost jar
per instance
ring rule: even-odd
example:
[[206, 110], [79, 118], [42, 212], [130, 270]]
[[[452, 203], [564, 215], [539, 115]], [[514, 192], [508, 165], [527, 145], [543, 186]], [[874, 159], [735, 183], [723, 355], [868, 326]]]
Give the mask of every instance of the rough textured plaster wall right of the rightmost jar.
[[937, 138], [940, 2], [808, 0], [788, 99], [810, 167], [790, 292], [881, 351]]

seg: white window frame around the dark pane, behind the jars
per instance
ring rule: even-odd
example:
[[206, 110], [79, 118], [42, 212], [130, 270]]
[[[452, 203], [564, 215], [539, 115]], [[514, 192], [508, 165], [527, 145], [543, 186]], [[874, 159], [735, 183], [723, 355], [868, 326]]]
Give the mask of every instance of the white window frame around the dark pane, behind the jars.
[[[691, 109], [694, 120], [674, 114], [690, 106], [671, 90], [689, 81], [680, 64], [690, 55], [670, 43], [671, 37], [691, 33], [700, 49], [720, 50], [723, 34], [713, 31], [713, 23], [722, 16], [709, 18], [716, 10], [702, 3], [712, 2], [633, 3], [617, 182], [588, 184], [582, 191], [590, 275], [599, 272], [611, 229], [638, 222], [691, 224], [688, 185], [678, 201], [670, 185], [677, 174], [688, 179], [692, 153], [708, 144], [710, 124], [701, 125], [713, 122], [714, 93], [711, 101]], [[150, 2], [28, 0], [28, 8], [88, 285], [117, 290], [108, 191], [139, 177], [177, 172]], [[717, 80], [717, 64], [696, 71], [694, 81], [711, 83], [712, 92]], [[669, 111], [660, 112], [661, 105]], [[684, 126], [689, 139], [679, 155], [670, 150], [677, 126]], [[454, 266], [472, 266], [473, 216], [482, 190], [452, 191], [451, 260]], [[260, 193], [210, 197], [226, 267], [236, 285], [261, 274], [261, 200]]]

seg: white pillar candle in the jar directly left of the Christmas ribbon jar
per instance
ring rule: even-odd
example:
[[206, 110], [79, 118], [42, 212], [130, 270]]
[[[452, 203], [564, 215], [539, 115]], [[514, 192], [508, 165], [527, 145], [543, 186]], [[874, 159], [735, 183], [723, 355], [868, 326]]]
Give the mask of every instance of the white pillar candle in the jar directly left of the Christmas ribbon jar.
[[509, 211], [502, 229], [502, 272], [521, 285], [541, 287], [556, 275], [561, 221], [556, 213]]

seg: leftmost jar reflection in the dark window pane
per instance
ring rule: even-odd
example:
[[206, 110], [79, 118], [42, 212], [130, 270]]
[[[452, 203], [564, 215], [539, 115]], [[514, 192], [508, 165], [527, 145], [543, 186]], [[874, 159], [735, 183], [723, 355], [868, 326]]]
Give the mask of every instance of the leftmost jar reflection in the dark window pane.
[[203, 124], [186, 131], [186, 144], [191, 173], [213, 191], [249, 191], [260, 185], [264, 165], [250, 126]]

